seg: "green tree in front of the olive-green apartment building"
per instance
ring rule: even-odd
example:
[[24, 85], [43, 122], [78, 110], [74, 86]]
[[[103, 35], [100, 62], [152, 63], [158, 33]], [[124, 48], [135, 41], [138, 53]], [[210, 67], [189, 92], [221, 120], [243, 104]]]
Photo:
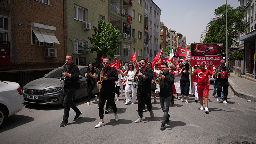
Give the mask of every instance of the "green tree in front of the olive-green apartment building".
[[120, 31], [102, 20], [98, 22], [98, 28], [93, 27], [93, 30], [95, 34], [88, 39], [93, 44], [93, 47], [90, 47], [91, 52], [97, 52], [95, 67], [100, 68], [102, 67], [101, 57], [114, 58], [114, 52], [117, 51], [118, 45], [121, 43], [118, 38]]

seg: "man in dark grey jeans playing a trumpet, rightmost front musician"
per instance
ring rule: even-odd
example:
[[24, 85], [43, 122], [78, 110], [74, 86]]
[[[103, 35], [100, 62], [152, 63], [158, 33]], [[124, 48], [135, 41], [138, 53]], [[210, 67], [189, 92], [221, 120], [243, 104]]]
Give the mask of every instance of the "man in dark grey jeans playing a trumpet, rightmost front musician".
[[172, 98], [172, 84], [174, 82], [174, 74], [168, 71], [168, 65], [166, 63], [161, 63], [161, 69], [163, 70], [163, 74], [159, 73], [157, 78], [159, 78], [160, 85], [160, 93], [159, 100], [161, 104], [161, 108], [164, 112], [163, 121], [160, 130], [165, 130], [165, 123], [169, 122], [170, 115], [169, 106]]

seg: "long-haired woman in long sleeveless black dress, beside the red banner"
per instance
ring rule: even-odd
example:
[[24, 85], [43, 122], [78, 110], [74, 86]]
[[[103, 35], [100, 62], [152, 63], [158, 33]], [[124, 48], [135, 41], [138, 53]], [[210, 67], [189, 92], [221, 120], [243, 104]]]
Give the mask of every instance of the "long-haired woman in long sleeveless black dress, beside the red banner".
[[188, 95], [189, 95], [189, 85], [190, 85], [190, 80], [189, 80], [189, 64], [185, 63], [183, 65], [183, 69], [181, 69], [178, 72], [178, 75], [181, 75], [181, 80], [180, 80], [180, 86], [181, 86], [181, 101], [183, 102], [184, 100], [184, 95], [186, 96], [186, 103], [188, 103]]

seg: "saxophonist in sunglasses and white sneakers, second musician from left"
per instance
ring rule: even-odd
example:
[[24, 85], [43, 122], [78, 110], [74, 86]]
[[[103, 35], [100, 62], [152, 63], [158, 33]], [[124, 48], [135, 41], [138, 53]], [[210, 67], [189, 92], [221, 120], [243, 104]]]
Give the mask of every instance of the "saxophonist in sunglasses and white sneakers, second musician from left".
[[[101, 71], [98, 74], [98, 81], [102, 81], [101, 83], [101, 91], [99, 93], [99, 116], [100, 116], [100, 122], [95, 126], [96, 128], [99, 128], [103, 125], [105, 125], [103, 121], [103, 114], [104, 114], [104, 105], [106, 100], [109, 102], [110, 106], [112, 107], [114, 113], [115, 113], [115, 120], [118, 121], [118, 115], [117, 115], [117, 106], [115, 103], [115, 81], [118, 80], [117, 70], [114, 67], [109, 67], [109, 59], [104, 58], [102, 62], [104, 69], [102, 71], [102, 75], [100, 74]], [[97, 84], [97, 87], [99, 84]]]

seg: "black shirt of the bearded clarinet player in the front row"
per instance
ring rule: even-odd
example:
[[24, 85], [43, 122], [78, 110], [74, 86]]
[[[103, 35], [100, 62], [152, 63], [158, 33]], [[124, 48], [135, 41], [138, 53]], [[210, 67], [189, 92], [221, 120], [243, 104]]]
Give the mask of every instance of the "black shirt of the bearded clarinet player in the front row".
[[[139, 71], [135, 75], [138, 75]], [[141, 70], [141, 73], [146, 76], [146, 79], [142, 76], [138, 76], [138, 91], [151, 91], [151, 80], [153, 79], [153, 71], [151, 68], [146, 67], [144, 73]], [[134, 78], [135, 81], [135, 78]]]

